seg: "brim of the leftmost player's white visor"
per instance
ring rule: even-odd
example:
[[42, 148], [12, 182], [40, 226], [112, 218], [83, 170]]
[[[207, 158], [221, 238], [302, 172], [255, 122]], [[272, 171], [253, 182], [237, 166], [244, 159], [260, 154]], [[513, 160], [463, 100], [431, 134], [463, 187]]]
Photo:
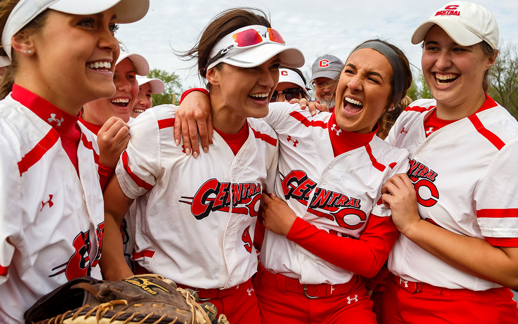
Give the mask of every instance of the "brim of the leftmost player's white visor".
[[59, 0], [49, 9], [73, 15], [92, 15], [113, 7], [118, 23], [131, 23], [146, 16], [149, 0]]

